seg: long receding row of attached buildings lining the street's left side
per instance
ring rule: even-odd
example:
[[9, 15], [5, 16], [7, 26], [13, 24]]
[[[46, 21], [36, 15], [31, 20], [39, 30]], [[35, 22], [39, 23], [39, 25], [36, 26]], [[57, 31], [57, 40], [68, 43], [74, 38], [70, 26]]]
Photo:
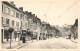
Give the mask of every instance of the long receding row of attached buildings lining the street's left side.
[[[19, 38], [18, 31], [29, 31], [32, 36], [37, 39], [43, 39], [44, 36], [48, 36], [49, 27], [48, 23], [41, 22], [41, 20], [32, 12], [23, 11], [23, 7], [17, 8], [13, 1], [2, 1], [2, 15], [1, 15], [1, 39], [2, 42], [9, 41], [10, 35], [8, 29], [14, 28], [12, 33], [12, 40]], [[43, 36], [44, 35], [44, 36]], [[22, 36], [22, 35], [20, 35]], [[28, 35], [28, 37], [31, 37]]]

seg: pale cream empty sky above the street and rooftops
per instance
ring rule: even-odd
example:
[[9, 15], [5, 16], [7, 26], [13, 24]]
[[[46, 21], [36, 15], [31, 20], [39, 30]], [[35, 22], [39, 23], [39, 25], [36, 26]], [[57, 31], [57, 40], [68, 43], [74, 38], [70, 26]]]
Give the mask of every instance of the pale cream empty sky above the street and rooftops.
[[[7, 1], [7, 0], [5, 0]], [[51, 25], [73, 25], [80, 16], [80, 0], [8, 0]]]

